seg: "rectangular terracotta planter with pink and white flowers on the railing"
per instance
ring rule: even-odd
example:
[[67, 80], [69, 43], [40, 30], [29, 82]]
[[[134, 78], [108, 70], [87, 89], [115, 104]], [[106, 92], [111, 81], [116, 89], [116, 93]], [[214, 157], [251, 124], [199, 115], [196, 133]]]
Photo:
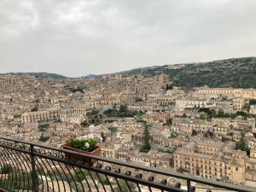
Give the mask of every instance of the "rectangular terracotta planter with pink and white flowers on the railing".
[[[76, 137], [68, 137], [66, 143], [62, 144], [62, 148], [67, 150], [72, 150], [74, 152], [79, 152], [82, 154], [91, 154], [100, 156], [101, 148], [97, 145], [98, 139], [97, 138], [76, 138]], [[75, 154], [75, 153], [65, 153], [67, 157], [82, 160], [84, 162], [92, 162], [95, 163], [96, 160], [90, 160], [90, 158]]]

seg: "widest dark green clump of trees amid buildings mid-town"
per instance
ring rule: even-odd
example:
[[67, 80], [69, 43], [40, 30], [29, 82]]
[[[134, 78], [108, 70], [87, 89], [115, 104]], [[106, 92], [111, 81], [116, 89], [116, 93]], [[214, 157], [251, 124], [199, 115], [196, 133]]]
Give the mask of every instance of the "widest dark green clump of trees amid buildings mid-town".
[[127, 108], [127, 105], [120, 105], [119, 109], [116, 108], [116, 106], [113, 106], [113, 108], [108, 108], [106, 111], [104, 111], [104, 114], [108, 117], [134, 117], [138, 114], [136, 110], [129, 110]]

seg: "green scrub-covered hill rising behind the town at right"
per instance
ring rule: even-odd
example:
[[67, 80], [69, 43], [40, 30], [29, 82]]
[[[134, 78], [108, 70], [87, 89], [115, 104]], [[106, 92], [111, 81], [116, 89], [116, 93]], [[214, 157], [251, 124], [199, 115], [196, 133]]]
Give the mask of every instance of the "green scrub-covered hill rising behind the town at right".
[[219, 61], [143, 67], [123, 72], [125, 75], [154, 76], [170, 74], [178, 86], [256, 88], [256, 57], [243, 57]]

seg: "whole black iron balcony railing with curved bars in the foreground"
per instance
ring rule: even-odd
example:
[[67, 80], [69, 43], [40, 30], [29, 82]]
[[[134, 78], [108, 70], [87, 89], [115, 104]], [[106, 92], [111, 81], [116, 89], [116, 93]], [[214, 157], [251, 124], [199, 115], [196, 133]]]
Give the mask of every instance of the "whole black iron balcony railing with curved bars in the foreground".
[[[84, 160], [74, 160], [70, 154]], [[256, 191], [4, 137], [0, 137], [0, 168], [0, 191]]]

